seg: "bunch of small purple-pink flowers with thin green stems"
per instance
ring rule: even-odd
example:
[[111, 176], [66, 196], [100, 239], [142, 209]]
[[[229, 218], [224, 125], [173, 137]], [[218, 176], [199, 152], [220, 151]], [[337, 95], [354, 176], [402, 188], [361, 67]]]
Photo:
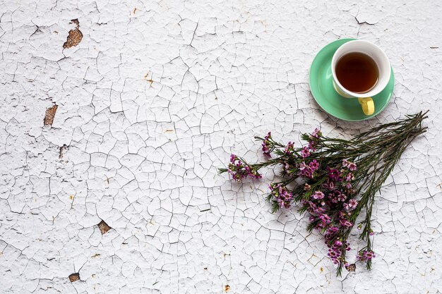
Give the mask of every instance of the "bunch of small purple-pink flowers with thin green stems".
[[[359, 239], [365, 246], [357, 252], [357, 262], [365, 262], [371, 269], [375, 257], [371, 238], [371, 212], [375, 195], [381, 189], [402, 152], [411, 140], [426, 131], [422, 121], [426, 112], [407, 116], [395, 123], [386, 123], [361, 133], [351, 140], [326, 137], [321, 130], [301, 135], [304, 147], [294, 147], [293, 142], [282, 145], [273, 140], [271, 133], [256, 137], [262, 142], [267, 161], [248, 164], [232, 154], [227, 169], [234, 180], [261, 178], [264, 166], [280, 166], [282, 180], [270, 183], [266, 200], [272, 212], [298, 206], [300, 213], [309, 214], [308, 231], [318, 230], [328, 246], [328, 257], [337, 265], [337, 276], [342, 268], [354, 271], [346, 253], [350, 250], [347, 238], [357, 224]], [[361, 212], [363, 219], [358, 221]]]

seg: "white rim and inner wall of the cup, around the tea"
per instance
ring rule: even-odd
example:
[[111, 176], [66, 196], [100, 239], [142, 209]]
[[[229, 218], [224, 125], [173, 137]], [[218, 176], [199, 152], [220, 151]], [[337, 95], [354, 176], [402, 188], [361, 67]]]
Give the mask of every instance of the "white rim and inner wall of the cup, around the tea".
[[[356, 92], [352, 92], [350, 90], [347, 90], [345, 87], [343, 87], [340, 83], [340, 81], [338, 80], [338, 77], [336, 76], [336, 72], [335, 72], [335, 67], [336, 67], [336, 59], [338, 56], [338, 53], [340, 53], [340, 51], [342, 51], [345, 47], [348, 47], [348, 44], [352, 44], [354, 42], [359, 42], [359, 43], [364, 43], [368, 46], [371, 46], [373, 48], [376, 48], [376, 50], [378, 51], [378, 53], [382, 56], [382, 59], [384, 59], [384, 61], [387, 63], [388, 68], [391, 68], [391, 64], [390, 64], [390, 60], [388, 59], [387, 54], [380, 48], [378, 47], [378, 45], [366, 41], [366, 40], [362, 40], [362, 39], [354, 39], [352, 41], [349, 41], [345, 44], [342, 44], [333, 54], [332, 57], [332, 62], [331, 62], [331, 71], [332, 71], [332, 75], [333, 75], [333, 81], [338, 85], [339, 89], [344, 92], [345, 94], [347, 94], [350, 97], [358, 97], [358, 98], [367, 98], [367, 97], [372, 97], [376, 94], [379, 94], [383, 89], [385, 89], [385, 87], [388, 84], [388, 81], [390, 80], [390, 75], [391, 75], [391, 71], [389, 70], [388, 73], [386, 75], [388, 75], [388, 77], [386, 79], [383, 80], [383, 82], [380, 84], [376, 84], [375, 87], [373, 89], [371, 89], [369, 92], [365, 92], [365, 93], [356, 93]], [[363, 52], [364, 53], [364, 52]]]

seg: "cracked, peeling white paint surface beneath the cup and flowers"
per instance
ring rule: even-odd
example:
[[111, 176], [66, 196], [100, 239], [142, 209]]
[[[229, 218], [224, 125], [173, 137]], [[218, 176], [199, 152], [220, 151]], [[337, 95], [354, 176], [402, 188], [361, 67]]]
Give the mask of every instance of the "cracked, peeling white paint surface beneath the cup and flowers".
[[[0, 293], [442, 291], [438, 1], [0, 7]], [[63, 49], [73, 19], [83, 39]], [[370, 121], [330, 118], [309, 93], [313, 56], [339, 37], [393, 64], [393, 102]], [[428, 132], [376, 202], [371, 272], [335, 278], [306, 219], [270, 214], [273, 171], [244, 185], [216, 174], [231, 152], [262, 159], [253, 136], [268, 130], [347, 137], [425, 109]]]

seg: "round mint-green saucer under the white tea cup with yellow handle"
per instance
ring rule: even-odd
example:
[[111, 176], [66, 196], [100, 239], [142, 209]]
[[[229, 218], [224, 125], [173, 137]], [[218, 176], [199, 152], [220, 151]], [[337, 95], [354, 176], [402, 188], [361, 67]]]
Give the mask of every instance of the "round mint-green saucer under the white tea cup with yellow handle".
[[345, 121], [364, 121], [376, 116], [386, 108], [393, 96], [395, 76], [393, 75], [393, 68], [391, 68], [391, 76], [386, 88], [372, 97], [374, 101], [374, 114], [371, 114], [371, 116], [366, 116], [364, 112], [362, 112], [361, 104], [359, 104], [356, 98], [352, 99], [340, 96], [333, 87], [331, 60], [335, 51], [342, 44], [352, 40], [353, 39], [338, 39], [323, 47], [323, 49], [316, 54], [310, 67], [310, 90], [311, 94], [313, 94], [313, 98], [328, 114]]

